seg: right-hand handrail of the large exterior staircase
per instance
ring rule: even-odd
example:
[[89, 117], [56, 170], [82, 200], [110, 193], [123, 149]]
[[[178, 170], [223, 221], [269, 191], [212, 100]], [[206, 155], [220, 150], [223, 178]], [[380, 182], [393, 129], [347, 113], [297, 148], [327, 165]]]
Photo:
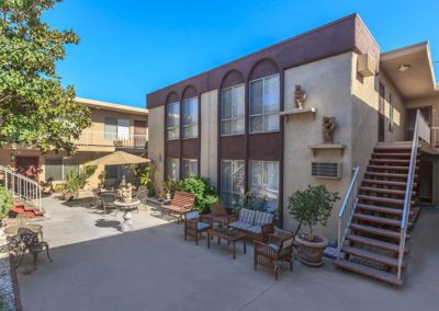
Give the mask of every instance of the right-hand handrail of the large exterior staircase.
[[423, 117], [419, 110], [416, 112], [415, 128], [413, 133], [410, 163], [408, 166], [407, 185], [405, 188], [403, 217], [401, 219], [399, 254], [397, 265], [397, 279], [401, 280], [403, 274], [403, 261], [405, 252], [405, 240], [407, 238], [408, 216], [412, 208], [413, 183], [415, 181], [416, 162], [418, 157], [419, 139], [430, 142], [428, 123]]

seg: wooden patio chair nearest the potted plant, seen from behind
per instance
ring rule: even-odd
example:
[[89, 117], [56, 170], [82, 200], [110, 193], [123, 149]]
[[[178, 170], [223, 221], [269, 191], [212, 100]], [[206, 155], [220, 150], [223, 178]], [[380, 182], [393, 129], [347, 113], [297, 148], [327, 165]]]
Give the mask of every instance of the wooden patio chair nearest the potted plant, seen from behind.
[[294, 253], [293, 243], [294, 234], [274, 233], [269, 234], [268, 243], [254, 241], [255, 256], [254, 268], [257, 270], [258, 265], [271, 268], [274, 273], [274, 279], [279, 278], [279, 270], [282, 262], [290, 263], [290, 270], [293, 270]]

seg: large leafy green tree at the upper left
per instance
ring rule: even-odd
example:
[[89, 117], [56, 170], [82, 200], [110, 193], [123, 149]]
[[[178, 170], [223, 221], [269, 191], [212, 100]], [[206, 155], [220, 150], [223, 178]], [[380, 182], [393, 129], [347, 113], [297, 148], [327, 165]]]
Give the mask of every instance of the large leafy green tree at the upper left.
[[89, 108], [75, 102], [72, 85], [63, 88], [56, 61], [70, 30], [52, 28], [42, 14], [60, 0], [0, 1], [0, 143], [36, 146], [42, 153], [75, 152], [71, 142], [91, 125]]

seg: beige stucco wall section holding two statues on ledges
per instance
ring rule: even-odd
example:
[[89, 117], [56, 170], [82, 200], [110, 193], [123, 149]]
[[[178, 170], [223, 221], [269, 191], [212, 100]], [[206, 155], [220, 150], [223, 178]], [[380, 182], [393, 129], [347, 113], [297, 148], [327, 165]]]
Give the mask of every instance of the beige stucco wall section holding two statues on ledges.
[[[285, 110], [293, 107], [294, 85], [300, 84], [307, 92], [306, 107], [315, 107], [316, 115], [290, 115], [284, 122], [284, 227], [294, 229], [296, 223], [288, 210], [288, 197], [305, 189], [309, 185], [324, 184], [329, 191], [345, 195], [351, 176], [351, 53], [334, 56], [319, 61], [285, 70], [284, 99]], [[346, 145], [340, 150], [317, 150], [313, 157], [308, 145], [322, 143], [322, 117], [335, 116], [337, 128], [334, 140]], [[311, 175], [313, 161], [341, 162], [340, 180], [315, 178]], [[334, 210], [326, 228], [317, 232], [330, 240], [337, 235], [337, 212], [340, 203]]]

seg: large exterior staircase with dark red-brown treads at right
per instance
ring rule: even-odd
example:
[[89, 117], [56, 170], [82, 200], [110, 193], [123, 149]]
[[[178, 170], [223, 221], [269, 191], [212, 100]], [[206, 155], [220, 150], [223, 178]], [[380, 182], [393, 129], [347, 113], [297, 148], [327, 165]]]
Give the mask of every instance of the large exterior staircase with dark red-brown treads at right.
[[[417, 149], [417, 159], [420, 156]], [[351, 215], [349, 233], [341, 245], [341, 256], [335, 265], [345, 270], [401, 286], [397, 278], [401, 226], [412, 156], [412, 145], [378, 143], [373, 150]], [[410, 206], [417, 195], [416, 160]], [[412, 208], [408, 229], [412, 230], [419, 209]], [[406, 240], [410, 235], [406, 234]], [[404, 252], [408, 252], [405, 247]], [[403, 263], [405, 267], [405, 263]]]

